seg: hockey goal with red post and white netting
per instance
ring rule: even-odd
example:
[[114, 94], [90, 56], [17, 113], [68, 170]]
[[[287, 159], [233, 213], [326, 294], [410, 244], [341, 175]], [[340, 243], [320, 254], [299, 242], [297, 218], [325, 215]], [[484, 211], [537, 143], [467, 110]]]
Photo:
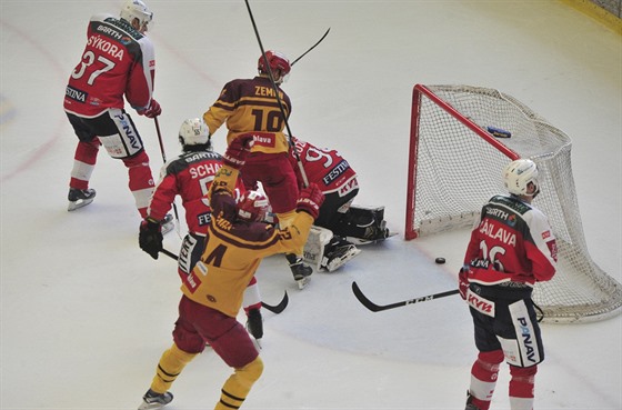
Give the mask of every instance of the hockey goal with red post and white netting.
[[[493, 129], [511, 137], [494, 137]], [[503, 132], [501, 132], [503, 134]], [[498, 90], [422, 86], [413, 90], [405, 239], [471, 228], [482, 204], [504, 192], [501, 170], [518, 158], [540, 170], [533, 204], [558, 240], [558, 272], [534, 302], [548, 322], [596, 321], [620, 313], [622, 286], [588, 252], [571, 168], [570, 138]]]

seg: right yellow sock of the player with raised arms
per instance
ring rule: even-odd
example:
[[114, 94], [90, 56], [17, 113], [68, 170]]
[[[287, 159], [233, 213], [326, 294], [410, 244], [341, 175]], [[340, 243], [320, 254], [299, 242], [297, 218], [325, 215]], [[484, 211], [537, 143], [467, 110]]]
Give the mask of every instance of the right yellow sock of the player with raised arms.
[[220, 402], [215, 404], [214, 410], [239, 409], [262, 372], [263, 361], [259, 356], [243, 368], [235, 369], [233, 374], [224, 382]]

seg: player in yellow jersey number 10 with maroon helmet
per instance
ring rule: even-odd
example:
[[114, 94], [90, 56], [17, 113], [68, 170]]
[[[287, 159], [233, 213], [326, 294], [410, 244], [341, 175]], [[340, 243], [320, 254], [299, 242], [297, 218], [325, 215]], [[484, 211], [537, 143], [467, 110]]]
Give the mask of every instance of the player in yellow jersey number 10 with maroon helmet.
[[[258, 76], [229, 81], [203, 114], [210, 134], [222, 124], [227, 126], [228, 143], [241, 133], [255, 132], [254, 144], [242, 169], [242, 180], [247, 190], [257, 189], [258, 182], [261, 182], [272, 211], [283, 227], [291, 223], [295, 216], [299, 193], [294, 170], [288, 160], [290, 143], [283, 133], [292, 106], [281, 84], [290, 70], [285, 56], [265, 51], [265, 56], [260, 56], [258, 60]], [[304, 288], [313, 269], [303, 263], [302, 247], [285, 257], [299, 288]]]

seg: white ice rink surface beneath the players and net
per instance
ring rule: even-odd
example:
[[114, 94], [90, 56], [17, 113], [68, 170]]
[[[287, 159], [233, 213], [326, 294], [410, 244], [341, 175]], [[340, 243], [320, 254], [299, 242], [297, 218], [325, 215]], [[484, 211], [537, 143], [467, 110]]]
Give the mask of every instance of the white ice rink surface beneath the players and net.
[[[67, 212], [77, 138], [62, 110], [91, 14], [114, 1], [0, 0], [2, 410], [136, 409], [171, 343], [180, 298], [172, 260], [138, 248], [126, 168], [99, 156], [96, 201]], [[241, 0], [148, 2], [156, 99], [168, 158], [177, 131], [233, 78], [255, 73], [259, 46]], [[621, 281], [622, 38], [561, 1], [253, 0], [267, 49], [292, 60], [284, 89], [298, 137], [339, 149], [359, 172], [355, 202], [383, 204], [401, 234], [298, 291], [282, 258], [258, 273], [265, 371], [243, 409], [462, 409], [475, 358], [459, 297], [372, 313], [379, 303], [455, 287], [466, 237], [403, 240], [415, 83], [496, 88], [573, 140], [572, 167], [592, 258]], [[154, 174], [152, 120], [130, 111]], [[224, 131], [214, 136], [224, 148]], [[494, 170], [492, 170], [495, 172]], [[461, 187], [455, 187], [461, 189]], [[482, 201], [485, 199], [482, 198]], [[178, 201], [179, 202], [179, 201]], [[178, 208], [181, 206], [178, 203]], [[183, 230], [184, 227], [182, 227]], [[164, 244], [178, 251], [177, 233]], [[435, 266], [437, 256], [448, 263]], [[544, 324], [535, 408], [622, 409], [622, 319]], [[205, 351], [172, 388], [171, 410], [212, 409], [230, 374]], [[503, 368], [492, 409], [509, 409]]]

